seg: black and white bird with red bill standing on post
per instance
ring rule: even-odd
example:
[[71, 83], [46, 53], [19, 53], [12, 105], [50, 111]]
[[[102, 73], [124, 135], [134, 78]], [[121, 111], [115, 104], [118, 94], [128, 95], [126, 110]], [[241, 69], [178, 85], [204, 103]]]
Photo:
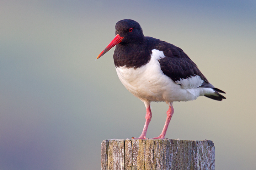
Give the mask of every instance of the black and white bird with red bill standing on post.
[[197, 68], [196, 64], [179, 47], [149, 36], [144, 36], [139, 23], [123, 19], [116, 23], [116, 37], [98, 55], [103, 56], [113, 46], [114, 64], [122, 84], [146, 107], [146, 122], [140, 137], [146, 139], [146, 131], [152, 117], [150, 102], [165, 101], [169, 105], [164, 128], [158, 137], [164, 139], [174, 113], [175, 101], [195, 100], [206, 96], [213, 100], [225, 99]]

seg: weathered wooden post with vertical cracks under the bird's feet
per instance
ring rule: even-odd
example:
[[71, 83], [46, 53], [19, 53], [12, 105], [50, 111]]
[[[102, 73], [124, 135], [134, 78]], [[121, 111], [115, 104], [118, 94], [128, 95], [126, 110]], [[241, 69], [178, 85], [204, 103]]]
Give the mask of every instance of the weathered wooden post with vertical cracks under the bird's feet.
[[212, 141], [104, 140], [102, 170], [214, 170]]

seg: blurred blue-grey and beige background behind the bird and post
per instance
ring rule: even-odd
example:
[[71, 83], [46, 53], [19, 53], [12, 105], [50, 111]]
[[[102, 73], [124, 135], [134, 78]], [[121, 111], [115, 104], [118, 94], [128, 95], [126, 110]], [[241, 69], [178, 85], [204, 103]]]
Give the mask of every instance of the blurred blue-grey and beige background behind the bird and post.
[[[138, 137], [145, 106], [119, 81], [113, 49], [121, 19], [181, 47], [222, 102], [174, 103], [167, 138], [212, 140], [215, 167], [256, 169], [256, 2], [0, 1], [0, 169], [100, 169], [105, 139]], [[147, 137], [163, 128], [152, 103]]]

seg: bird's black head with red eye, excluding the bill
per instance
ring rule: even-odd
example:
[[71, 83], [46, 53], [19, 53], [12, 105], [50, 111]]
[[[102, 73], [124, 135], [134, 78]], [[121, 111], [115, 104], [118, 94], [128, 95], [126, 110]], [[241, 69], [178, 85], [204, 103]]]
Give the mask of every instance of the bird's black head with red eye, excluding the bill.
[[116, 23], [116, 35], [123, 37], [120, 44], [141, 43], [145, 37], [140, 24], [132, 19], [123, 19]]

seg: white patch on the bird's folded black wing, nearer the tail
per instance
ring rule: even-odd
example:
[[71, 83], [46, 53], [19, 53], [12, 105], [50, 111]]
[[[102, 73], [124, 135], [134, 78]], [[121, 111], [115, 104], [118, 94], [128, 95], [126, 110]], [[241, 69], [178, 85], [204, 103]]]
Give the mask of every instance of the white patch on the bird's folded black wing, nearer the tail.
[[180, 78], [180, 80], [175, 81], [175, 83], [180, 84], [184, 89], [194, 89], [200, 87], [203, 83], [203, 80], [199, 75], [196, 75], [186, 79]]

